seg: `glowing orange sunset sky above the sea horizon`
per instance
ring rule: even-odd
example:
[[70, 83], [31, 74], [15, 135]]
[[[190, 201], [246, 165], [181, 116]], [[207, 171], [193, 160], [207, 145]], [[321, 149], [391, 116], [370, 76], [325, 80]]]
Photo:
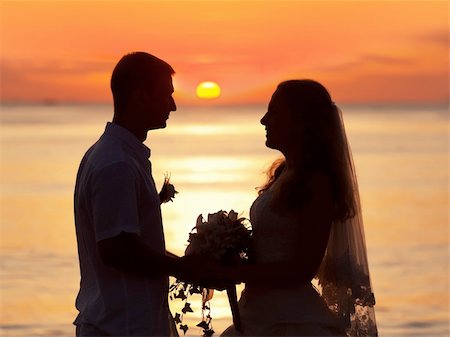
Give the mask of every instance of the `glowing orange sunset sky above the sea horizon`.
[[[448, 101], [448, 1], [3, 1], [1, 100], [110, 102], [120, 57], [168, 61], [178, 104], [267, 103], [313, 78], [336, 102]], [[211, 103], [209, 103], [211, 104]]]

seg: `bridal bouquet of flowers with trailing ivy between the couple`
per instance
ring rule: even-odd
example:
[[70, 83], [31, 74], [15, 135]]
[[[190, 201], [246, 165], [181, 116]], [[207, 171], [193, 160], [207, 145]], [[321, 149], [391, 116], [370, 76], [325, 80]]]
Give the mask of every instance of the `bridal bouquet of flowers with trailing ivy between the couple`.
[[[205, 255], [227, 265], [242, 263], [248, 259], [251, 235], [252, 231], [246, 219], [239, 218], [233, 210], [228, 213], [219, 211], [208, 214], [206, 221], [200, 214], [196, 226], [189, 234], [186, 255]], [[236, 287], [233, 284], [226, 289], [233, 314], [233, 323], [240, 330]], [[182, 309], [183, 314], [192, 312], [190, 303], [187, 302], [187, 296], [195, 293], [202, 294], [203, 317], [202, 322], [197, 326], [203, 328], [204, 336], [211, 336], [214, 333], [211, 325], [210, 307], [207, 303], [212, 298], [212, 290], [177, 280], [170, 287], [170, 293], [171, 299], [180, 298], [185, 301], [185, 306]], [[182, 318], [182, 315], [176, 314], [175, 322], [186, 333], [188, 327], [182, 324]]]

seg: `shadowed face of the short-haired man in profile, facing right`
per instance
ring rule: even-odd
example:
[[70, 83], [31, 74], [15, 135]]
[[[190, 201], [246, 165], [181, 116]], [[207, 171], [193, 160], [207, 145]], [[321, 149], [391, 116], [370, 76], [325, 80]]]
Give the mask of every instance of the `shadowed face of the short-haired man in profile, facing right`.
[[154, 90], [143, 92], [139, 116], [142, 127], [147, 130], [166, 127], [170, 112], [177, 109], [172, 97], [173, 91], [172, 76], [167, 75], [160, 78], [159, 84]]

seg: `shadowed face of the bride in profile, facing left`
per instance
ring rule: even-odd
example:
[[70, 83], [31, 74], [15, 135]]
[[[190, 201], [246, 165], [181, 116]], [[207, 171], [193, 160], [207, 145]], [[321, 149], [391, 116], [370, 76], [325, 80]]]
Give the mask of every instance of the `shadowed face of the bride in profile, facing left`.
[[266, 127], [266, 146], [283, 153], [298, 144], [299, 125], [278, 91], [272, 95], [267, 113], [261, 119]]

